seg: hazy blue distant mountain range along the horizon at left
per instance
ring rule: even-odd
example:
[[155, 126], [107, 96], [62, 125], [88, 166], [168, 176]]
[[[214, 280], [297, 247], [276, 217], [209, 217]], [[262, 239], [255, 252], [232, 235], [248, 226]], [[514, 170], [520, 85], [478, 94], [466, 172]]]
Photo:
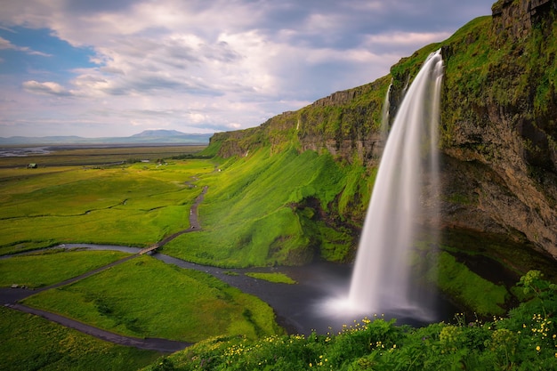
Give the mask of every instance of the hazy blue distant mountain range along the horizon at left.
[[182, 133], [176, 130], [145, 130], [128, 137], [83, 138], [71, 136], [0, 137], [2, 145], [35, 144], [208, 144], [212, 133]]

